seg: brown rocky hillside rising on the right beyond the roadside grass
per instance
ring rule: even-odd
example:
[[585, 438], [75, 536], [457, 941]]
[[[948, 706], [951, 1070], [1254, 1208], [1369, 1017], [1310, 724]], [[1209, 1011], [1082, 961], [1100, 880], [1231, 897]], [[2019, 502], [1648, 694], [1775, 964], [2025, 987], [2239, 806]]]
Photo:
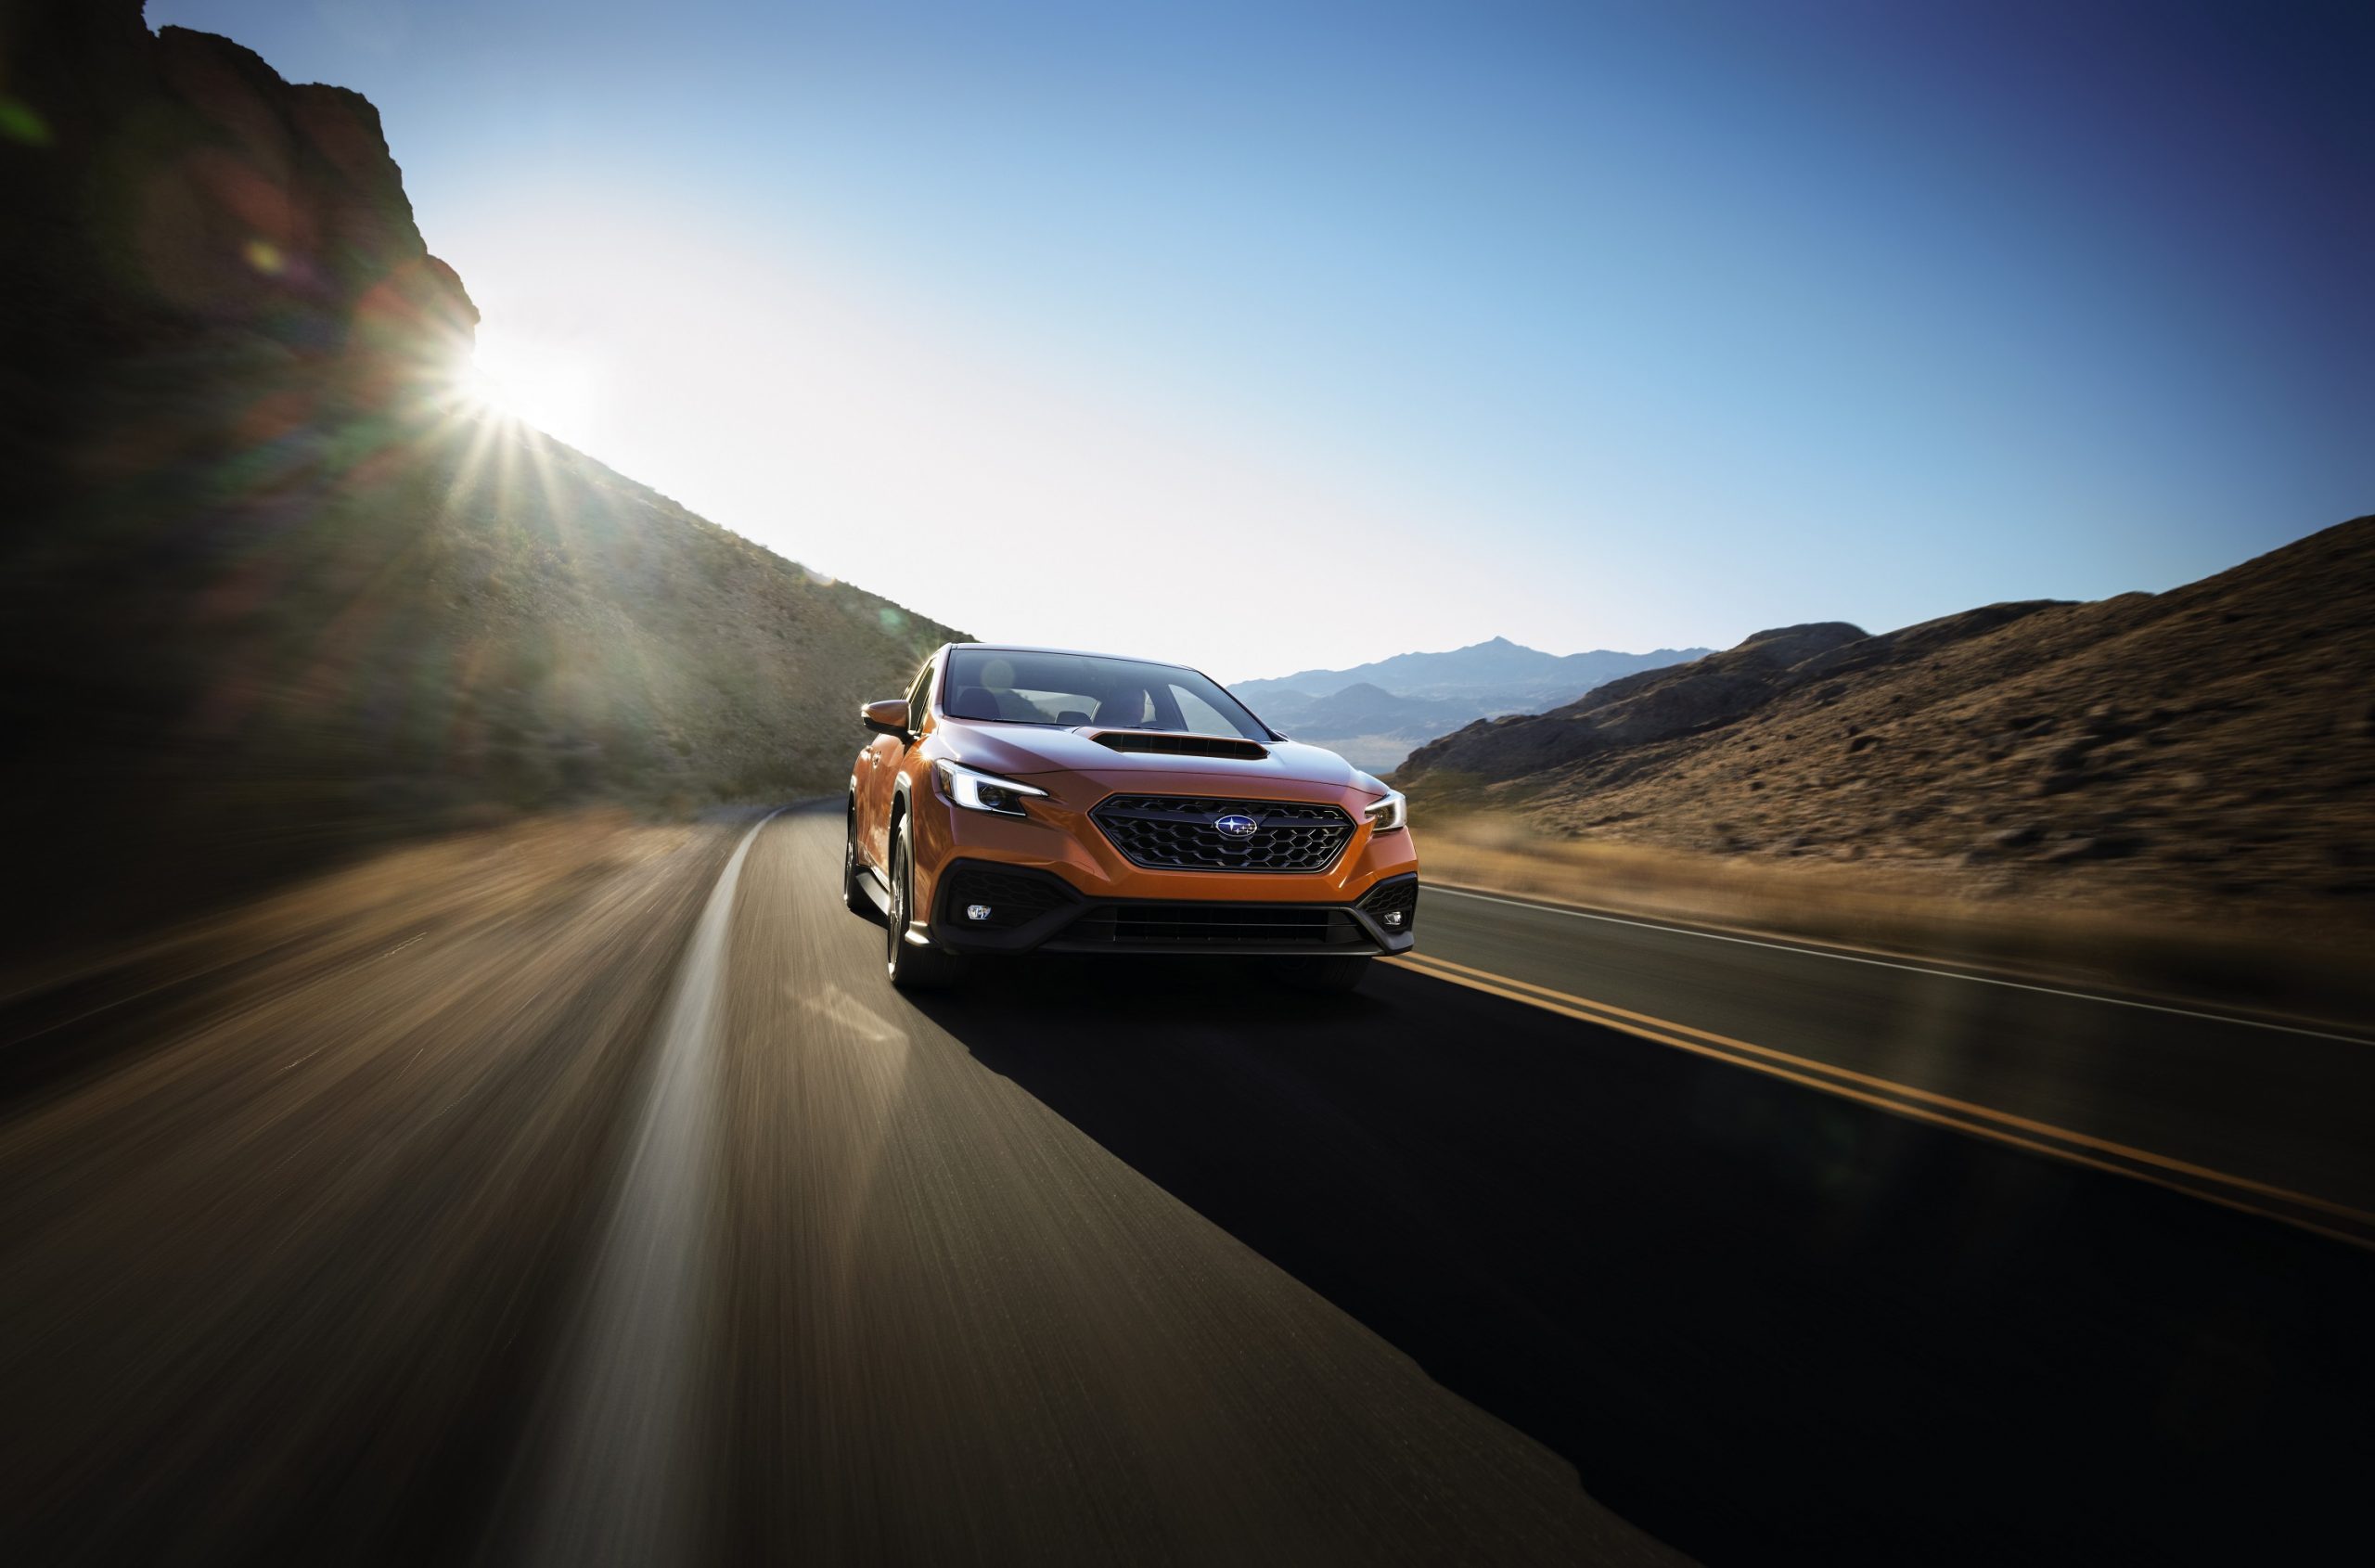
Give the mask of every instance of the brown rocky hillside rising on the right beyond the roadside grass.
[[1565, 836], [2375, 919], [2375, 518], [2168, 594], [1760, 632], [1404, 765]]

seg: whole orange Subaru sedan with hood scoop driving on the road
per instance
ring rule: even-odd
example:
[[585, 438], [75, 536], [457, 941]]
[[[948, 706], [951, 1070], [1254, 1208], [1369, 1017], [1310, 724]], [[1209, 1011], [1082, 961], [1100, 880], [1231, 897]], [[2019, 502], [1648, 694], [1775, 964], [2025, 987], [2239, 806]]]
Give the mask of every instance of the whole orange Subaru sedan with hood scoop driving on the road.
[[841, 881], [893, 986], [1062, 950], [1259, 955], [1349, 991], [1416, 941], [1401, 794], [1195, 670], [960, 641], [864, 725]]

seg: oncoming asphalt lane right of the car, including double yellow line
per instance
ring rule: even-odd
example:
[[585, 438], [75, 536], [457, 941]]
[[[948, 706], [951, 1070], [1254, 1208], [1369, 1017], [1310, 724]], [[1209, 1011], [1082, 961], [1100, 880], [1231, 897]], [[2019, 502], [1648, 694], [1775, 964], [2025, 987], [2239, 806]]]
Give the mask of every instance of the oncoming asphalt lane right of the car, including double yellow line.
[[2375, 1245], [2375, 1031], [1437, 889], [1413, 967]]

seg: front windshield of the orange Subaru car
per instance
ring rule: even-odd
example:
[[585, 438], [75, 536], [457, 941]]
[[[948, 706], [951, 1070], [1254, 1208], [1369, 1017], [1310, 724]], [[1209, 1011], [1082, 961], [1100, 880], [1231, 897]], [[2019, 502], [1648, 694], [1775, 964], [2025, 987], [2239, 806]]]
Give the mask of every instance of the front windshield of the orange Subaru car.
[[1273, 739], [1235, 696], [1195, 670], [1095, 653], [957, 649], [943, 706], [952, 717], [1009, 725], [1107, 725]]

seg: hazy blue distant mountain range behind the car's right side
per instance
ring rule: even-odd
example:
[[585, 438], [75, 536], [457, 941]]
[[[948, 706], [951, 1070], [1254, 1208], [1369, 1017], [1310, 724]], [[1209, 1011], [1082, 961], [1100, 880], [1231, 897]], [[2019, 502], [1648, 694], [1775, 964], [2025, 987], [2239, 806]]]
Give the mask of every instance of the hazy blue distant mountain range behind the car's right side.
[[1230, 687], [1271, 727], [1389, 772], [1411, 748], [1503, 713], [1541, 713], [1594, 687], [1700, 658], [1708, 649], [1655, 653], [1544, 653], [1506, 637], [1449, 653], [1396, 653], [1351, 670], [1299, 670]]

